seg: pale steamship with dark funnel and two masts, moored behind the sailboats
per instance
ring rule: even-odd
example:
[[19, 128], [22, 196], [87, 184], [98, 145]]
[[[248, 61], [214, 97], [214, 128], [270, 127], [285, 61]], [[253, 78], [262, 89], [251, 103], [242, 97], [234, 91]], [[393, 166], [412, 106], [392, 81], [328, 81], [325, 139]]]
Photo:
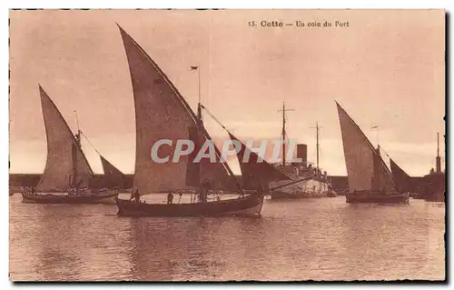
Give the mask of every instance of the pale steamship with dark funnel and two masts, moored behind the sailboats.
[[270, 183], [271, 199], [310, 198], [310, 197], [335, 197], [327, 172], [321, 172], [319, 167], [319, 125], [317, 129], [317, 164], [312, 165], [307, 160], [308, 146], [297, 145], [297, 157], [301, 163], [286, 163], [285, 161], [285, 104], [282, 106], [282, 163], [274, 165], [291, 180], [273, 181]]

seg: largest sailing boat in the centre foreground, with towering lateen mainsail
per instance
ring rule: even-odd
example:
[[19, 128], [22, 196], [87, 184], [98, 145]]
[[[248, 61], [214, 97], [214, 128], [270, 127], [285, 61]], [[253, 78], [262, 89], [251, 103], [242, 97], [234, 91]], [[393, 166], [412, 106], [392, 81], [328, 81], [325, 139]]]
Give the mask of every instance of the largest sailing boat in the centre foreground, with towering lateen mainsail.
[[[176, 163], [153, 161], [150, 148], [159, 140], [171, 140], [174, 144], [177, 140], [189, 139], [195, 145], [194, 152], [198, 152], [201, 145], [212, 141], [212, 138], [203, 127], [201, 118], [193, 113], [167, 75], [122, 27], [118, 27], [133, 84], [136, 125], [133, 177], [136, 199], [131, 202], [117, 198], [118, 215], [260, 215], [263, 193], [258, 190], [245, 195], [226, 163], [203, 162], [205, 159], [196, 163], [193, 154], [183, 156]], [[160, 155], [171, 152], [172, 146], [163, 146]], [[221, 158], [217, 149], [216, 157]], [[239, 195], [238, 198], [208, 199], [210, 190], [226, 191], [232, 185], [236, 187], [234, 192]], [[194, 191], [199, 195], [199, 202], [173, 204], [173, 194]], [[137, 195], [153, 193], [167, 193], [167, 204], [146, 204], [137, 198]]]

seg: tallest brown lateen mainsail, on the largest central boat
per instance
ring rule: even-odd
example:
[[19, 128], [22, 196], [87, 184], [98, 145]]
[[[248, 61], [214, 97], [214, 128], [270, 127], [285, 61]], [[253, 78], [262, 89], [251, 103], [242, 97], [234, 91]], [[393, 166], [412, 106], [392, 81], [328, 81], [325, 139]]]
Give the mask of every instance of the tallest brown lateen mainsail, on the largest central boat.
[[[173, 163], [172, 159], [177, 140], [189, 139], [189, 128], [197, 126], [197, 117], [159, 66], [123, 28], [119, 28], [133, 83], [136, 125], [133, 186], [141, 194], [193, 189], [195, 185], [186, 184], [188, 156], [181, 156], [178, 163]], [[211, 139], [204, 129], [200, 130], [205, 139]], [[170, 156], [170, 160], [156, 163], [151, 158], [151, 149], [163, 139], [171, 140], [173, 145], [161, 145], [157, 154], [159, 157]], [[232, 177], [224, 166], [221, 163], [202, 163], [200, 179], [211, 179], [214, 188], [230, 186], [223, 184], [223, 181], [232, 184]]]

